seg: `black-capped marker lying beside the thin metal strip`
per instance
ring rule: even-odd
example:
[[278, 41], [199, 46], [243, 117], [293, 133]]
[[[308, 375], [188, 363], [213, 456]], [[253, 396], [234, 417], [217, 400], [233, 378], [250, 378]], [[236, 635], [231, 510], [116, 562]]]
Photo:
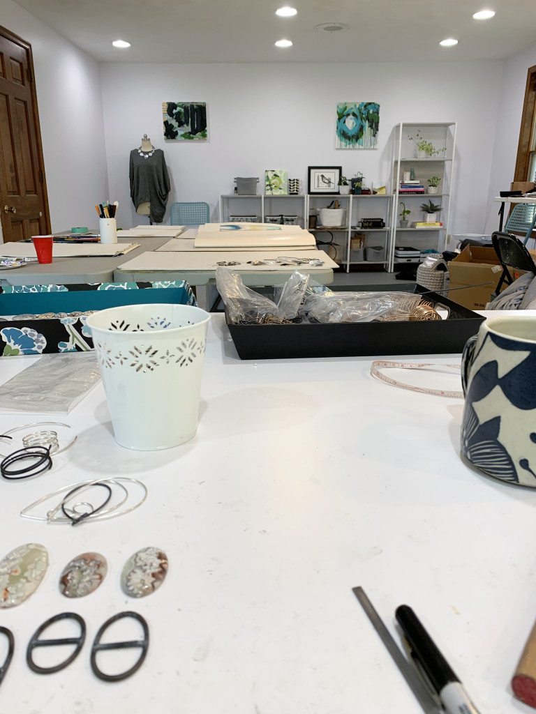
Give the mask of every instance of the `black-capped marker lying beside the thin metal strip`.
[[413, 658], [424, 670], [448, 714], [479, 714], [412, 608], [400, 605], [394, 614], [410, 645]]

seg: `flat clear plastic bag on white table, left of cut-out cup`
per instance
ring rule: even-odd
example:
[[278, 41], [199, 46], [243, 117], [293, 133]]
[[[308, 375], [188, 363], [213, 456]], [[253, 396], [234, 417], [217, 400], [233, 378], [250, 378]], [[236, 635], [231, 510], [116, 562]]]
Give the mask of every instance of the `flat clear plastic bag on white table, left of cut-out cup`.
[[0, 385], [0, 410], [68, 414], [100, 378], [93, 351], [44, 355]]

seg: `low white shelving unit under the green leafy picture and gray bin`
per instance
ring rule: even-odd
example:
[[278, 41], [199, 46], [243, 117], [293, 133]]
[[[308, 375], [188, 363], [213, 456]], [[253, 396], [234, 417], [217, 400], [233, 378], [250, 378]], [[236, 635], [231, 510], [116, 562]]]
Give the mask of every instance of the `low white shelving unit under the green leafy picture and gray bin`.
[[255, 216], [264, 223], [266, 216], [298, 216], [298, 225], [306, 226], [307, 196], [303, 194], [287, 194], [282, 196], [271, 194], [254, 194], [241, 196], [239, 193], [228, 193], [219, 196], [219, 221], [229, 221], [231, 216]]

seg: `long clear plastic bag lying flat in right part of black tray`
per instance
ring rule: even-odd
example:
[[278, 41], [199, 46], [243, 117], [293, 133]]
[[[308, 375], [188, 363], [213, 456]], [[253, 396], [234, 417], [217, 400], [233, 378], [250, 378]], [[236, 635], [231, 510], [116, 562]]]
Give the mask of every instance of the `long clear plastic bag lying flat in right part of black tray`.
[[310, 322], [372, 322], [378, 318], [410, 313], [420, 299], [419, 295], [405, 292], [335, 293], [329, 291], [307, 296], [304, 309]]

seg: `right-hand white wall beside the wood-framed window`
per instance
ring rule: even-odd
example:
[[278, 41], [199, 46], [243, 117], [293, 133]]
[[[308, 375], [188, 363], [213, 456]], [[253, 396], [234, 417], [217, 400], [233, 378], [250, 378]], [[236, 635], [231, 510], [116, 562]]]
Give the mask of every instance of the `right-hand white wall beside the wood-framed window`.
[[486, 233], [492, 233], [499, 227], [497, 211], [500, 203], [493, 201], [493, 198], [499, 195], [499, 191], [507, 191], [514, 179], [527, 70], [535, 65], [536, 44], [510, 57], [504, 64], [497, 111], [497, 133], [493, 147]]

